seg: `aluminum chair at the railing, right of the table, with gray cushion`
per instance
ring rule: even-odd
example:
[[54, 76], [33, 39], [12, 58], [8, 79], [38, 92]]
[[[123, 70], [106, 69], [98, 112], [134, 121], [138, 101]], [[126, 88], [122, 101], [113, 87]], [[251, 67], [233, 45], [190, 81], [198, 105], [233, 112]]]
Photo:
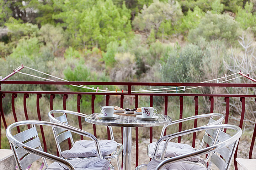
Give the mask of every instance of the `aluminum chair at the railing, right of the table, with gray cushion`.
[[[184, 118], [184, 119], [175, 120], [175, 121], [172, 121], [171, 123], [165, 125], [162, 128], [160, 138], [164, 136], [164, 132], [165, 132], [166, 128], [170, 125], [185, 122], [185, 121], [188, 121], [188, 120], [202, 119], [202, 118], [207, 118], [207, 117], [209, 117], [209, 121], [208, 121], [208, 124], [206, 124], [204, 126], [222, 124], [222, 122], [224, 120], [224, 115], [219, 114], [219, 113], [201, 114], [201, 115], [187, 117], [187, 118]], [[217, 120], [214, 120], [213, 118], [217, 118]], [[215, 142], [217, 140], [216, 135], [217, 135], [217, 130], [214, 130], [214, 129], [207, 130], [205, 132], [204, 136], [203, 136], [201, 145], [199, 146], [198, 149], [201, 149], [203, 147], [204, 143], [207, 143], [208, 145], [215, 144]], [[161, 152], [162, 152], [163, 144], [164, 144], [164, 142], [160, 144], [160, 148], [158, 150], [157, 157], [159, 157]], [[153, 157], [152, 155], [153, 155], [153, 152], [154, 152], [155, 145], [156, 145], [156, 142], [150, 143], [148, 145], [148, 156], [150, 158]], [[180, 155], [180, 154], [185, 154], [185, 153], [188, 153], [188, 152], [191, 152], [191, 151], [194, 151], [194, 150], [198, 150], [198, 149], [194, 149], [190, 145], [187, 145], [187, 144], [170, 142], [167, 146], [167, 153], [165, 154], [165, 159], [166, 158], [171, 158], [171, 157], [174, 157], [174, 156], [177, 156], [177, 155]], [[210, 155], [208, 155], [208, 158], [206, 159], [207, 161], [210, 158], [209, 156]], [[201, 158], [200, 157], [194, 157], [194, 158], [190, 158], [188, 160], [190, 160], [190, 161], [200, 161]]]

